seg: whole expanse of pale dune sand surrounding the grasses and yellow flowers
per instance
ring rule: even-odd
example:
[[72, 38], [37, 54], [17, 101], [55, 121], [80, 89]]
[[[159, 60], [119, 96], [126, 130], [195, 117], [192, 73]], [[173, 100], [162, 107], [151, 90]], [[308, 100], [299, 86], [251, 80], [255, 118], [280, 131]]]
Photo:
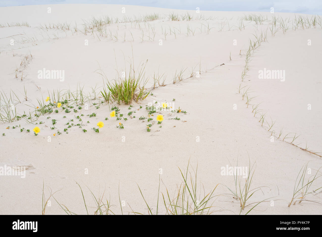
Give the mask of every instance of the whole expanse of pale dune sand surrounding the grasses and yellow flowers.
[[[46, 6], [24, 6], [0, 8], [0, 23], [27, 21], [31, 27], [3, 27], [0, 28], [0, 62], [1, 68], [1, 90], [9, 93], [10, 89], [18, 91], [22, 103], [17, 104], [20, 110], [33, 111], [27, 105], [36, 105], [36, 98], [45, 98], [48, 90], [68, 89], [74, 90], [80, 83], [85, 86], [87, 92], [90, 87], [97, 85], [98, 92], [102, 86], [102, 79], [95, 71], [99, 68], [108, 75], [109, 79], [115, 78], [116, 62], [118, 70], [124, 69], [124, 58], [127, 62], [132, 57], [131, 45], [135, 65], [148, 60], [146, 75], [154, 72], [166, 73], [165, 87], [153, 90], [153, 95], [148, 96], [145, 101], [129, 110], [128, 106], [120, 105], [121, 113], [135, 111], [136, 118], [127, 117], [128, 120], [121, 122], [124, 129], [116, 126], [119, 121], [110, 118], [110, 107], [102, 105], [99, 109], [91, 105], [89, 110], [82, 109], [78, 113], [52, 113], [50, 119], [57, 120], [57, 128], [62, 131], [67, 127], [68, 120], [83, 113], [83, 121], [90, 121], [83, 127], [86, 133], [78, 127], [72, 127], [68, 134], [52, 136], [55, 130], [51, 130], [50, 119], [46, 116], [40, 117], [41, 132], [38, 136], [32, 133], [20, 132], [19, 128], [5, 129], [8, 124], [2, 124], [1, 136], [1, 165], [32, 165], [27, 171], [26, 178], [17, 176], [1, 176], [0, 198], [2, 214], [39, 214], [42, 204], [42, 185], [50, 187], [52, 191], [60, 190], [55, 198], [66, 205], [72, 212], [85, 214], [83, 200], [78, 182], [83, 188], [87, 204], [93, 207], [95, 204], [90, 196], [89, 190], [95, 194], [102, 194], [105, 189], [106, 197], [115, 205], [112, 210], [120, 213], [118, 185], [120, 187], [120, 199], [128, 203], [136, 212], [148, 213], [144, 200], [137, 185], [140, 186], [147, 202], [156, 209], [159, 168], [162, 182], [173, 194], [176, 185], [180, 185], [182, 177], [178, 167], [185, 169], [190, 159], [193, 168], [198, 164], [198, 182], [204, 185], [205, 191], [209, 192], [217, 184], [215, 195], [219, 195], [214, 203], [216, 210], [222, 210], [217, 214], [239, 213], [239, 204], [230, 195], [229, 188], [234, 188], [233, 176], [221, 175], [221, 167], [248, 166], [248, 157], [251, 164], [256, 161], [253, 187], [265, 186], [262, 192], [252, 196], [251, 202], [264, 199], [276, 200], [271, 206], [270, 202], [258, 205], [252, 214], [321, 214], [319, 204], [306, 202], [303, 205], [294, 205], [288, 208], [291, 199], [296, 176], [301, 167], [309, 162], [311, 169], [321, 167], [322, 161], [318, 156], [310, 155], [286, 142], [275, 138], [270, 141], [271, 132], [268, 132], [267, 124], [260, 126], [259, 114], [253, 117], [251, 106], [246, 108], [245, 100], [238, 93], [237, 87], [241, 83], [241, 71], [245, 62], [245, 50], [248, 48], [249, 38], [253, 33], [267, 29], [269, 22], [256, 25], [254, 22], [245, 21], [245, 29], [240, 31], [232, 25], [238, 24], [238, 17], [244, 13], [203, 12], [205, 15], [216, 15], [217, 19], [207, 21], [214, 28], [207, 33], [195, 33], [185, 36], [187, 24], [196, 29], [206, 21], [179, 21], [169, 22], [156, 20], [150, 24], [156, 28], [155, 41], [140, 42], [140, 30], [125, 25], [110, 25], [118, 34], [131, 31], [134, 42], [131, 42], [130, 34], [127, 33], [126, 42], [122, 40], [109, 40], [108, 38], [72, 31], [58, 31], [59, 39], [53, 39], [52, 34], [57, 30], [50, 30], [49, 37], [40, 30], [39, 24], [47, 22], [78, 21], [88, 19], [91, 16], [109, 14], [121, 17], [118, 13], [120, 6], [116, 5], [78, 5], [78, 11], [72, 9], [75, 5], [54, 5], [52, 14], [43, 13]], [[57, 11], [54, 11], [56, 9]], [[173, 10], [156, 9], [139, 6], [126, 6], [127, 14], [138, 15], [146, 12], [168, 14]], [[16, 15], [13, 16], [12, 12]], [[35, 14], [37, 12], [37, 14]], [[59, 13], [58, 13], [59, 12]], [[185, 14], [186, 11], [178, 11]], [[18, 14], [19, 13], [19, 14]], [[32, 17], [29, 17], [29, 16]], [[292, 14], [280, 14], [289, 17]], [[28, 19], [27, 19], [28, 16]], [[222, 23], [229, 22], [230, 30], [226, 25], [220, 31]], [[182, 34], [177, 38], [173, 34], [167, 35], [166, 40], [162, 36], [164, 27], [181, 27]], [[143, 27], [143, 26], [142, 26]], [[162, 28], [161, 28], [162, 27]], [[196, 32], [198, 29], [196, 29]], [[308, 147], [313, 151], [322, 150], [321, 147], [321, 79], [318, 75], [318, 55], [321, 45], [315, 43], [321, 41], [321, 29], [305, 29], [290, 31], [283, 35], [277, 33], [275, 37], [269, 36], [268, 43], [264, 42], [255, 50], [251, 57], [248, 78], [242, 86], [251, 86], [252, 94], [256, 97], [253, 104], [262, 102], [260, 109], [267, 112], [267, 119], [271, 117], [277, 120], [274, 126], [275, 134], [279, 128], [284, 126], [285, 135], [289, 132], [301, 134], [299, 142], [308, 142]], [[24, 42], [10, 45], [11, 35], [24, 32], [24, 37], [37, 35], [36, 41]], [[41, 32], [41, 33], [39, 33]], [[43, 37], [40, 35], [43, 34]], [[268, 33], [269, 34], [269, 33]], [[312, 40], [312, 45], [307, 45], [307, 38]], [[89, 40], [89, 45], [84, 46], [84, 40]], [[163, 45], [158, 45], [158, 40], [163, 39]], [[237, 46], [232, 42], [237, 39]], [[18, 39], [17, 39], [18, 40]], [[240, 50], [242, 50], [240, 54]], [[115, 55], [116, 54], [116, 60]], [[26, 53], [33, 55], [32, 60], [23, 69], [25, 78], [21, 81], [14, 78], [13, 71], [19, 66], [21, 58]], [[232, 52], [232, 61], [229, 54]], [[124, 56], [123, 56], [124, 53]], [[15, 56], [13, 56], [15, 54]], [[304, 56], [302, 56], [304, 55]], [[195, 67], [202, 61], [203, 74], [200, 78], [196, 76], [187, 80], [172, 83], [172, 75], [180, 71], [182, 67]], [[219, 66], [220, 64], [225, 64]], [[44, 80], [37, 78], [37, 71], [43, 67], [48, 69], [65, 70], [66, 80]], [[287, 71], [286, 80], [258, 79], [258, 70], [266, 68], [282, 69]], [[188, 71], [188, 70], [187, 70]], [[188, 77], [186, 72], [185, 78]], [[305, 78], [305, 80], [303, 80]], [[149, 85], [153, 83], [151, 77]], [[24, 86], [27, 89], [28, 101], [23, 100]], [[145, 105], [148, 103], [172, 102], [173, 109], [184, 109], [184, 113], [171, 113], [160, 111], [165, 120], [162, 128], [154, 124], [151, 132], [146, 131], [146, 124], [154, 120], [144, 122], [139, 120], [140, 116], [146, 116]], [[307, 102], [308, 101], [308, 102]], [[308, 111], [307, 104], [312, 104], [312, 110]], [[233, 105], [237, 105], [237, 110]], [[113, 104], [114, 105], [114, 104]], [[143, 108], [139, 108], [139, 106]], [[86, 115], [93, 112], [96, 117], [89, 118]], [[67, 118], [62, 118], [66, 116]], [[133, 116], [133, 114], [132, 114]], [[178, 116], [180, 120], [174, 120]], [[104, 119], [108, 117], [109, 120]], [[151, 116], [152, 118], [152, 116]], [[91, 130], [98, 121], [104, 121], [104, 128], [99, 133]], [[77, 122], [74, 122], [77, 123]], [[20, 125], [32, 130], [35, 125], [26, 124], [24, 120], [16, 121], [10, 126]], [[37, 125], [38, 126], [38, 125]], [[51, 136], [51, 142], [47, 142], [47, 136]], [[125, 142], [122, 142], [122, 137]], [[197, 136], [200, 142], [196, 142]], [[296, 144], [298, 144], [296, 143]], [[20, 160], [20, 161], [19, 161]], [[84, 174], [88, 169], [89, 173]], [[321, 182], [317, 183], [318, 186]], [[226, 185], [226, 186], [225, 186]], [[321, 186], [321, 185], [320, 185]], [[165, 187], [161, 183], [161, 192]], [[311, 190], [310, 190], [311, 191]], [[48, 196], [49, 191], [45, 189]], [[277, 200], [279, 199], [279, 200]], [[321, 201], [319, 196], [310, 196], [309, 199]], [[47, 207], [48, 214], [63, 214], [58, 204], [51, 199], [52, 205]], [[245, 210], [249, 210], [248, 206]], [[131, 211], [126, 205], [123, 213]], [[90, 208], [90, 212], [94, 212]], [[161, 213], [165, 213], [161, 207]], [[246, 213], [246, 212], [243, 212]]]

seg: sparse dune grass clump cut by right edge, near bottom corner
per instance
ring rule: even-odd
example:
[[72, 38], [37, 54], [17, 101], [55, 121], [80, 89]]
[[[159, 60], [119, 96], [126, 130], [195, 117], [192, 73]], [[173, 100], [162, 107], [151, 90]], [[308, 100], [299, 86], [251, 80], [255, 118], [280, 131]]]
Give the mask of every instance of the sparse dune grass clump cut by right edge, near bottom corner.
[[[296, 202], [298, 202], [300, 204], [302, 201], [322, 204], [322, 202], [319, 202], [319, 201], [306, 199], [306, 197], [309, 194], [315, 195], [318, 190], [322, 189], [322, 186], [318, 187], [316, 189], [313, 189], [313, 186], [312, 186], [313, 182], [322, 176], [320, 169], [322, 169], [322, 167], [320, 167], [316, 171], [315, 175], [311, 175], [310, 177], [308, 177], [308, 179], [306, 179], [305, 175], [308, 171], [308, 163], [305, 166], [302, 166], [302, 168], [299, 171], [298, 176], [296, 177], [296, 180], [295, 180], [293, 195], [292, 195], [291, 201], [289, 202], [289, 207], [291, 206], [291, 204], [293, 202], [294, 202], [293, 205], [295, 205]], [[312, 188], [311, 188], [311, 186], [312, 186]], [[310, 192], [310, 190], [312, 190], [312, 191]]]

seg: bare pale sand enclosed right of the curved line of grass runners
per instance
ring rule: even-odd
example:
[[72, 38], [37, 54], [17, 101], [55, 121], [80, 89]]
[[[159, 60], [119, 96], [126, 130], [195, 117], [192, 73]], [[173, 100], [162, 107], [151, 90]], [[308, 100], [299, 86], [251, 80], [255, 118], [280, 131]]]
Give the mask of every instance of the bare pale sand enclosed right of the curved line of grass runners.
[[[301, 147], [305, 148], [307, 142], [310, 150], [315, 152], [321, 152], [322, 128], [318, 121], [322, 119], [322, 81], [316, 71], [319, 67], [318, 55], [322, 53], [322, 47], [317, 42], [321, 39], [318, 29], [305, 33], [289, 32], [281, 39], [271, 39], [254, 54], [249, 73], [251, 81], [248, 83], [258, 95], [256, 101], [263, 102], [260, 107], [268, 110], [267, 115], [276, 120], [275, 132], [279, 134], [283, 126], [285, 135], [300, 134], [295, 143], [302, 143]], [[314, 43], [308, 46], [308, 40]], [[258, 70], [264, 67], [285, 70], [285, 81], [258, 79]], [[311, 105], [310, 110], [308, 104]]]

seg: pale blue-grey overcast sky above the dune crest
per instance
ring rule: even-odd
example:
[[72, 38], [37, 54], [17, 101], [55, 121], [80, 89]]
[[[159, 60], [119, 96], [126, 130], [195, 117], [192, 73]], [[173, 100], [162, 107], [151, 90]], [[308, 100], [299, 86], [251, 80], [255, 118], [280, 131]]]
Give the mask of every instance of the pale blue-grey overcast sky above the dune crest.
[[172, 9], [209, 11], [256, 11], [294, 12], [322, 14], [322, 0], [0, 0], [0, 6], [40, 5], [40, 4], [121, 4], [141, 5]]

